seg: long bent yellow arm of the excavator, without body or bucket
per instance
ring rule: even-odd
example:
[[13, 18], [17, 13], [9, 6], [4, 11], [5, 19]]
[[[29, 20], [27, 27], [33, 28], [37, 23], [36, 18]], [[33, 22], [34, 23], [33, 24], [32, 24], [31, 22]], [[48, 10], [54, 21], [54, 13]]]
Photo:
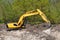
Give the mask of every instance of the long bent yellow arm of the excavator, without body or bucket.
[[47, 19], [45, 14], [43, 12], [41, 12], [39, 9], [37, 9], [37, 12], [31, 11], [31, 12], [26, 12], [26, 14], [22, 15], [18, 21], [18, 25], [20, 25], [20, 23], [22, 23], [22, 21], [25, 17], [32, 16], [32, 15], [40, 15], [45, 22], [50, 23], [50, 21]]

